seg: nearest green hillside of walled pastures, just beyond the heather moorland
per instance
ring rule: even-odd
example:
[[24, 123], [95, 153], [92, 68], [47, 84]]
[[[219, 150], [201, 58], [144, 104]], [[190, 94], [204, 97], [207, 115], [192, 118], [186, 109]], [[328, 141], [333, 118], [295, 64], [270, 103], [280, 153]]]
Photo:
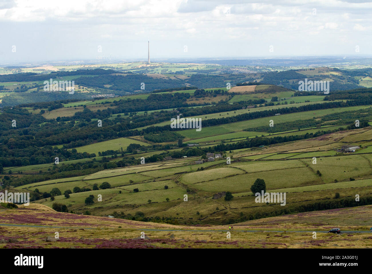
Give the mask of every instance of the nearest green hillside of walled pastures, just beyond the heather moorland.
[[[49, 192], [57, 187], [63, 193], [66, 189], [72, 190], [74, 186], [92, 189], [94, 183], [100, 185], [109, 182], [110, 189], [73, 193], [68, 199], [61, 195], [55, 199], [66, 204], [69, 210], [89, 210], [97, 215], [113, 214], [120, 209], [132, 215], [141, 211], [147, 217], [177, 216], [186, 223], [224, 223], [230, 218], [240, 218], [241, 214], [246, 216], [282, 209], [279, 204], [254, 202], [250, 187], [257, 178], [264, 179], [269, 192], [286, 192], [290, 207], [332, 199], [336, 192], [340, 193], [340, 199], [355, 194], [369, 195], [372, 191], [371, 154], [335, 155], [333, 149], [314, 151], [312, 145], [309, 145], [317, 144], [316, 149], [318, 146], [334, 146], [342, 144], [339, 140], [347, 139], [348, 136], [353, 136], [355, 140], [372, 139], [372, 130], [366, 128], [337, 132], [291, 144], [267, 146], [266, 149], [256, 151], [237, 149], [227, 152], [228, 156], [234, 155], [230, 165], [226, 164], [226, 160], [193, 164], [196, 158], [180, 159], [102, 170], [68, 181], [34, 183], [27, 188]], [[317, 157], [316, 164], [312, 163], [312, 157]], [[318, 170], [321, 176], [317, 174]], [[355, 180], [350, 181], [350, 178]], [[165, 185], [168, 189], [164, 189]], [[23, 188], [25, 186], [18, 189]], [[139, 192], [134, 192], [135, 188]], [[222, 191], [232, 192], [234, 198], [231, 201], [212, 199], [215, 193]], [[99, 194], [102, 195], [102, 202], [96, 201]], [[189, 195], [189, 203], [183, 202], [185, 194]], [[93, 205], [84, 204], [89, 195], [95, 197]], [[39, 202], [48, 206], [53, 204], [49, 198]]]

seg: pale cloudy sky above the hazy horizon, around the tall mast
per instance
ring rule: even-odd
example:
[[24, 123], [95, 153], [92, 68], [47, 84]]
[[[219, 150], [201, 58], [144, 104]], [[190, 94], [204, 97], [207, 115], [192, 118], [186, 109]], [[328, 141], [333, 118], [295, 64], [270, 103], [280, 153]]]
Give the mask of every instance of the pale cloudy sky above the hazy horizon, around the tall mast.
[[0, 0], [0, 64], [372, 55], [366, 0]]

